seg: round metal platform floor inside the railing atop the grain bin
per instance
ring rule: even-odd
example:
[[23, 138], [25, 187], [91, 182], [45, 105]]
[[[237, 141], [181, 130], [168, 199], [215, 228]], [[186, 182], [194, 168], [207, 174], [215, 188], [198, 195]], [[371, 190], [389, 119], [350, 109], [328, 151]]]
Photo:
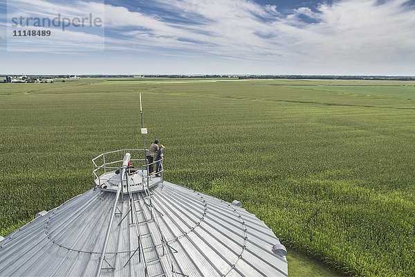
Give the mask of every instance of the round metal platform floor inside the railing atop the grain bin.
[[[143, 178], [143, 174], [145, 175]], [[151, 175], [148, 177], [149, 186], [148, 188], [152, 188], [156, 186], [157, 184], [160, 184], [163, 182], [163, 179], [161, 177], [156, 177], [154, 175]], [[129, 188], [131, 190], [131, 193], [140, 193], [147, 190], [147, 170], [138, 169], [137, 173], [129, 174], [128, 175], [128, 184]], [[127, 194], [127, 186], [126, 186], [126, 180], [125, 177], [122, 180], [124, 186], [122, 188], [122, 193]], [[116, 170], [106, 172], [103, 175], [100, 175], [100, 177], [95, 179], [95, 185], [100, 188], [102, 191], [109, 191], [116, 193], [118, 186], [120, 186], [121, 183], [121, 176], [120, 173], [116, 173]]]

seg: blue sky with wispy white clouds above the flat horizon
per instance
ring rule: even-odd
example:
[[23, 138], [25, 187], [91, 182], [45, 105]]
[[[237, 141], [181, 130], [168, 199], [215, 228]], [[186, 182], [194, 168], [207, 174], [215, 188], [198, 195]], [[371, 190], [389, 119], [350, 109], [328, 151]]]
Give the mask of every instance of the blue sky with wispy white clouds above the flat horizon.
[[[0, 6], [0, 74], [415, 75], [415, 0], [0, 0]], [[91, 15], [102, 24], [64, 31], [35, 28], [33, 21], [13, 26], [12, 18], [58, 14]], [[12, 36], [26, 29], [51, 35]]]

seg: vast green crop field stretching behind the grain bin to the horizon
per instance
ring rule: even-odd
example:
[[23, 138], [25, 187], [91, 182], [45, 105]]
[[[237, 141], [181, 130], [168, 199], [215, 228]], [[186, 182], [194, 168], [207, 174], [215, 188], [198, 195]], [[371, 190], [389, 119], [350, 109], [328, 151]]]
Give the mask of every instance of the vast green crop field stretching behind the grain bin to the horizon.
[[138, 92], [167, 181], [238, 199], [344, 274], [414, 276], [415, 82], [0, 84], [0, 235], [92, 188], [93, 157], [142, 147]]

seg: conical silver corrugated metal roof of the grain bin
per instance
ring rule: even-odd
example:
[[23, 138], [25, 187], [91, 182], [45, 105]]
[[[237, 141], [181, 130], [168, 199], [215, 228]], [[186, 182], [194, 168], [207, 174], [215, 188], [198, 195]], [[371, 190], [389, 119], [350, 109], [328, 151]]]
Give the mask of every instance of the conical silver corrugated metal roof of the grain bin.
[[[121, 196], [101, 276], [146, 276], [145, 265], [147, 276], [288, 276], [271, 251], [279, 240], [255, 215], [167, 181], [149, 192], [133, 194], [137, 217]], [[7, 235], [0, 276], [95, 276], [115, 197], [91, 189]]]

